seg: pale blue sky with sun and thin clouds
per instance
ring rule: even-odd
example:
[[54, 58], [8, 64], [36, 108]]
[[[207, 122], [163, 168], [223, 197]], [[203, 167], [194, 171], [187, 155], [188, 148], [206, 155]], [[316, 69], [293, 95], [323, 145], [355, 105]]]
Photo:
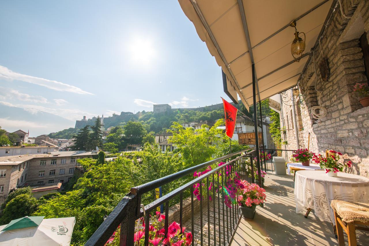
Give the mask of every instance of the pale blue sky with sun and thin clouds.
[[[0, 33], [0, 111], [75, 121], [226, 97], [221, 68], [177, 1], [1, 1]], [[0, 126], [30, 124], [0, 114]]]

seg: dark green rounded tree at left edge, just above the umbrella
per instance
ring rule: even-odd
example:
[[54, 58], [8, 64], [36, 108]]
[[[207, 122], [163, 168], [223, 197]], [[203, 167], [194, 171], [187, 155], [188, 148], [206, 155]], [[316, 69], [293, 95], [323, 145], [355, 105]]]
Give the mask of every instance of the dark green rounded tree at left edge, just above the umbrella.
[[31, 194], [20, 194], [11, 199], [4, 208], [1, 224], [7, 224], [13, 219], [31, 216], [37, 210], [37, 199]]

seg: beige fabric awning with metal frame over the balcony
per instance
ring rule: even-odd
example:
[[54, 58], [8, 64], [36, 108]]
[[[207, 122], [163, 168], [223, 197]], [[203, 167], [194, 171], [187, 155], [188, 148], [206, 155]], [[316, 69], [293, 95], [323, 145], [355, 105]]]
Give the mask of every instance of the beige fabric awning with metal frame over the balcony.
[[[333, 0], [179, 3], [226, 75], [227, 95], [234, 101], [237, 93], [246, 108], [253, 104], [251, 64], [255, 64], [257, 100], [295, 86], [336, 4]], [[297, 30], [306, 34], [305, 56], [300, 62], [291, 54], [295, 30], [289, 24], [293, 20]]]

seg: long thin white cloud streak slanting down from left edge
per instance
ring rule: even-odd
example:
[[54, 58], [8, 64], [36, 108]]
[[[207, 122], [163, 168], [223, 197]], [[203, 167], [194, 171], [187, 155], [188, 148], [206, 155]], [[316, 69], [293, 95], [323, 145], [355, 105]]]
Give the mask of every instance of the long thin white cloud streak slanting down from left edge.
[[35, 85], [44, 86], [46, 88], [57, 90], [57, 91], [94, 95], [90, 92], [86, 92], [85, 90], [82, 90], [73, 85], [68, 85], [68, 84], [58, 82], [55, 80], [43, 79], [43, 78], [38, 78], [38, 77], [30, 76], [30, 75], [13, 72], [10, 69], [6, 68], [5, 66], [0, 66], [0, 79], [6, 79], [9, 81], [13, 81], [13, 80], [24, 81], [24, 82], [32, 83]]

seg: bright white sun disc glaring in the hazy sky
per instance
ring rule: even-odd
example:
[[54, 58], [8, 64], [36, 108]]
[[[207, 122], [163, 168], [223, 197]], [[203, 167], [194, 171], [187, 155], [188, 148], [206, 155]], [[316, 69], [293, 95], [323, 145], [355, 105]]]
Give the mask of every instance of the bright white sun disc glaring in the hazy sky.
[[149, 64], [155, 58], [155, 49], [151, 41], [144, 39], [135, 39], [130, 45], [132, 60]]

